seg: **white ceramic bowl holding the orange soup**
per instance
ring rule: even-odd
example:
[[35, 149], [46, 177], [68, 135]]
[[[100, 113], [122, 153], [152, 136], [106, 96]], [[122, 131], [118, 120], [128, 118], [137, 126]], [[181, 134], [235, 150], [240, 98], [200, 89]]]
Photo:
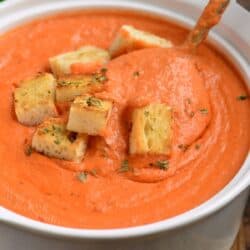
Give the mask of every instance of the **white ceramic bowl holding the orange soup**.
[[[196, 16], [199, 9], [199, 6], [192, 5], [191, 2], [9, 0], [9, 3], [0, 5], [0, 32], [40, 16], [65, 10], [100, 7], [143, 10], [189, 27], [194, 23], [190, 17]], [[220, 27], [227, 41], [212, 33], [210, 42], [232, 61], [250, 87], [248, 41], [237, 29], [232, 30], [230, 37], [227, 36], [226, 31], [230, 28], [228, 23]], [[240, 41], [240, 44], [235, 44], [235, 41]], [[58, 227], [31, 220], [0, 207], [0, 246], [3, 250], [229, 250], [246, 204], [250, 184], [249, 170], [248, 156], [234, 179], [201, 206], [171, 219], [125, 229], [84, 230]]]

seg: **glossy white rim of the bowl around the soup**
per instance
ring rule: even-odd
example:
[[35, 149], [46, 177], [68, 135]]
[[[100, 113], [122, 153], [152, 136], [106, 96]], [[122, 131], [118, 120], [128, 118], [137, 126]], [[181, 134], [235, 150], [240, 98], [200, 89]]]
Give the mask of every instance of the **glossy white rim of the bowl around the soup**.
[[[32, 7], [21, 8], [18, 11], [10, 13], [9, 15], [0, 17], [0, 29], [8, 30], [23, 22], [37, 19], [41, 16], [53, 15], [57, 12], [74, 11], [84, 9], [127, 9], [135, 11], [144, 11], [147, 13], [161, 16], [170, 19], [177, 24], [190, 27], [194, 21], [182, 14], [175, 13], [169, 9], [163, 9], [155, 5], [129, 2], [129, 1], [105, 1], [93, 0], [91, 3], [83, 1], [51, 1], [50, 3], [36, 4]], [[11, 10], [10, 10], [11, 12]], [[249, 86], [250, 76], [248, 74], [249, 66], [244, 57], [231, 45], [228, 41], [221, 38], [215, 32], [211, 32], [209, 41], [216, 46], [226, 57], [233, 62], [234, 66], [241, 73], [246, 83]], [[35, 233], [44, 234], [47, 236], [77, 238], [88, 240], [109, 240], [133, 238], [145, 235], [152, 235], [163, 231], [175, 230], [188, 224], [193, 224], [203, 218], [210, 216], [217, 212], [233, 199], [235, 199], [241, 192], [248, 188], [250, 182], [250, 155], [248, 154], [244, 164], [242, 165], [236, 176], [216, 195], [202, 203], [200, 206], [191, 209], [178, 216], [146, 224], [142, 226], [118, 228], [118, 229], [77, 229], [56, 226], [42, 223], [28, 217], [24, 217], [15, 212], [12, 212], [0, 206], [0, 222], [15, 226], [17, 228], [29, 230]]]

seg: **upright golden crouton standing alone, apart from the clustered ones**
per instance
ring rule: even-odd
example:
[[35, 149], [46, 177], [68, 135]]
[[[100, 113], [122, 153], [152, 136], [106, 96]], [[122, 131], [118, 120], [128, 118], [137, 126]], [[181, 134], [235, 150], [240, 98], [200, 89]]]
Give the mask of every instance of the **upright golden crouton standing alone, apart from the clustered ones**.
[[130, 154], [169, 155], [171, 147], [171, 108], [150, 104], [132, 113]]

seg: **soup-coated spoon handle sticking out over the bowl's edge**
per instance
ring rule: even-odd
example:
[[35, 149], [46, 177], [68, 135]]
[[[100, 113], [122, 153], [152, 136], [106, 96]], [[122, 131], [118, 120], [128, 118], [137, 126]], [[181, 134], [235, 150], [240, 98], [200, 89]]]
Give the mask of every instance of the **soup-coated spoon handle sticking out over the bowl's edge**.
[[210, 0], [194, 29], [188, 35], [184, 47], [197, 48], [207, 37], [209, 31], [220, 21], [230, 0]]

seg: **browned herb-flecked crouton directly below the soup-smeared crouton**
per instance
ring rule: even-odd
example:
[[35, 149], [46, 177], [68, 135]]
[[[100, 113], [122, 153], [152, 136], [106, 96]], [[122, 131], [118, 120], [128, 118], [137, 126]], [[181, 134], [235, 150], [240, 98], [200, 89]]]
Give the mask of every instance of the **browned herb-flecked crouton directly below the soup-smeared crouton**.
[[99, 91], [103, 88], [105, 81], [106, 76], [97, 73], [61, 77], [57, 81], [56, 100], [57, 102], [69, 102], [79, 95]]

